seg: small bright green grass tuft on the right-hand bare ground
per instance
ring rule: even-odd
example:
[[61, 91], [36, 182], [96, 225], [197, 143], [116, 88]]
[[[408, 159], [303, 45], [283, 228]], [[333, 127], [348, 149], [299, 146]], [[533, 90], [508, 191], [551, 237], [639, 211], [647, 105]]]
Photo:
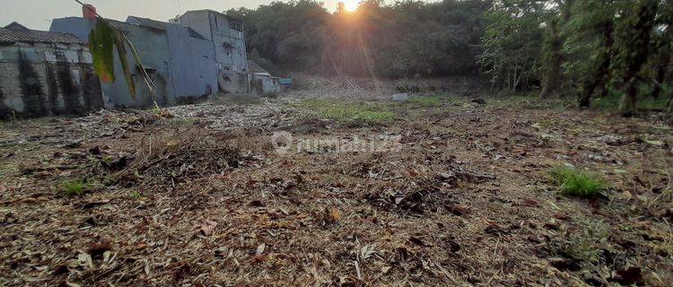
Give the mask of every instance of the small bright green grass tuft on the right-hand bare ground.
[[607, 189], [603, 180], [581, 170], [556, 168], [551, 176], [564, 196], [595, 197]]

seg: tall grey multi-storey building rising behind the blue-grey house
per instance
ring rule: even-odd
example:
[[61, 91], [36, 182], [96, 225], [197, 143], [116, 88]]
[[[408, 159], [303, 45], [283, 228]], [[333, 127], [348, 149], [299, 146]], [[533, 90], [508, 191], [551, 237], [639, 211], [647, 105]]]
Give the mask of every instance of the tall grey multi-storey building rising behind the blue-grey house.
[[200, 10], [185, 13], [178, 22], [212, 41], [222, 92], [249, 92], [245, 37], [242, 31], [230, 28], [230, 18], [223, 13]]

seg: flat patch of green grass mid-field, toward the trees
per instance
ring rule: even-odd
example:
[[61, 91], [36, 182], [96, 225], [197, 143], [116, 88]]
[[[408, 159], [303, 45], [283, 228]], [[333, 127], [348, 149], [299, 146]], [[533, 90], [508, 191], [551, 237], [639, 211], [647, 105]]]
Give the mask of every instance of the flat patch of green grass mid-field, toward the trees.
[[290, 105], [294, 109], [303, 109], [317, 113], [320, 117], [334, 119], [339, 122], [365, 122], [382, 124], [397, 118], [388, 106], [373, 102], [344, 102], [336, 100], [302, 100]]

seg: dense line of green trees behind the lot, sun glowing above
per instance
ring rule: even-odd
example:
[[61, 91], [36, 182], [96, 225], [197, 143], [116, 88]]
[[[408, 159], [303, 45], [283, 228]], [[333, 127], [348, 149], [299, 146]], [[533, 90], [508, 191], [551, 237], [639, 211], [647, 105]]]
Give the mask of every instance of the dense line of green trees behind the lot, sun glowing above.
[[249, 57], [276, 74], [485, 76], [582, 107], [620, 97], [625, 115], [636, 100], [673, 99], [673, 0], [365, 0], [335, 13], [295, 0], [225, 13], [245, 23]]

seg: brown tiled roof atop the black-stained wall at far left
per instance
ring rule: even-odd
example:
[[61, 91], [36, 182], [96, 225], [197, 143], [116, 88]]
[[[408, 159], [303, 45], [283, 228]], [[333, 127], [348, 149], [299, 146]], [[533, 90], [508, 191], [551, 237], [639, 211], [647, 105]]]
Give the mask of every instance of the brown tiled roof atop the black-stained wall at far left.
[[86, 41], [73, 34], [48, 32], [44, 30], [13, 30], [7, 28], [0, 28], [0, 42], [87, 44]]

